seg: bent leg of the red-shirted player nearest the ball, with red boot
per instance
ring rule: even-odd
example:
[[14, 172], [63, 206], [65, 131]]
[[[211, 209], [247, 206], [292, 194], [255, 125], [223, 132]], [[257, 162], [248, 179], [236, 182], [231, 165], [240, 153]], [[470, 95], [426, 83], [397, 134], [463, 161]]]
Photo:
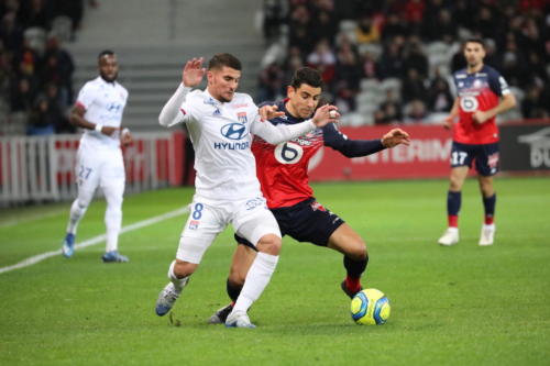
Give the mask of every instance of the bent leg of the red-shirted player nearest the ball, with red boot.
[[344, 255], [346, 276], [341, 287], [352, 298], [363, 289], [361, 275], [369, 264], [365, 242], [349, 224], [343, 223], [330, 235], [327, 246]]

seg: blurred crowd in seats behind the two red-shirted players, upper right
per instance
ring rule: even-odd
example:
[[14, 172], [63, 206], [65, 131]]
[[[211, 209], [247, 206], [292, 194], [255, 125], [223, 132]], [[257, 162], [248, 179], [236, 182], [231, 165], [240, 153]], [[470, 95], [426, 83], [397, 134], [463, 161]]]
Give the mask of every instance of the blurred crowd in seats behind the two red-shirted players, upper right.
[[520, 101], [508, 119], [550, 115], [549, 0], [264, 0], [263, 24], [258, 100], [284, 97], [310, 66], [358, 124], [436, 122], [465, 67], [461, 42], [481, 37]]

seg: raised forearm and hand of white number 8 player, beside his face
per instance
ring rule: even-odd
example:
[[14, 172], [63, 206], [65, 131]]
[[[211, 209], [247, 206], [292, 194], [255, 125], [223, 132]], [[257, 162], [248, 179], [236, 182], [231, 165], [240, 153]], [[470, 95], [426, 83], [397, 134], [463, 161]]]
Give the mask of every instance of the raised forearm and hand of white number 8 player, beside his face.
[[158, 123], [166, 127], [174, 124], [183, 122], [182, 114], [179, 113], [179, 108], [185, 101], [187, 93], [190, 88], [196, 87], [202, 81], [202, 77], [206, 74], [206, 69], [202, 67], [204, 58], [191, 58], [189, 59], [182, 71], [182, 84], [177, 88], [176, 92], [168, 99], [166, 104], [164, 104], [161, 114], [158, 115]]

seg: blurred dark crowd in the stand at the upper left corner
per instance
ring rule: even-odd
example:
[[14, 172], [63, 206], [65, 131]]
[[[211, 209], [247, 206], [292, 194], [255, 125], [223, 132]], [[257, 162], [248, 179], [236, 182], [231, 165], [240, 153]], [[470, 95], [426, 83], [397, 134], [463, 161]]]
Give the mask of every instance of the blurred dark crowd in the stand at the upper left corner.
[[[89, 1], [95, 5], [95, 1]], [[74, 132], [74, 40], [84, 0], [0, 0], [0, 115], [2, 133]]]

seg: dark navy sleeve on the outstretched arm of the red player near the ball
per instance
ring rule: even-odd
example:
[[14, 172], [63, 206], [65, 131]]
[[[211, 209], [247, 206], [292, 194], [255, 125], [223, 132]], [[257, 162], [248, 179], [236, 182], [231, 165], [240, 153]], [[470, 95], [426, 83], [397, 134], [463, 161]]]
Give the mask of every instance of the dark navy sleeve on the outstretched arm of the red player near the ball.
[[324, 145], [329, 146], [346, 157], [358, 157], [375, 154], [384, 149], [380, 140], [350, 140], [330, 123], [322, 129]]

